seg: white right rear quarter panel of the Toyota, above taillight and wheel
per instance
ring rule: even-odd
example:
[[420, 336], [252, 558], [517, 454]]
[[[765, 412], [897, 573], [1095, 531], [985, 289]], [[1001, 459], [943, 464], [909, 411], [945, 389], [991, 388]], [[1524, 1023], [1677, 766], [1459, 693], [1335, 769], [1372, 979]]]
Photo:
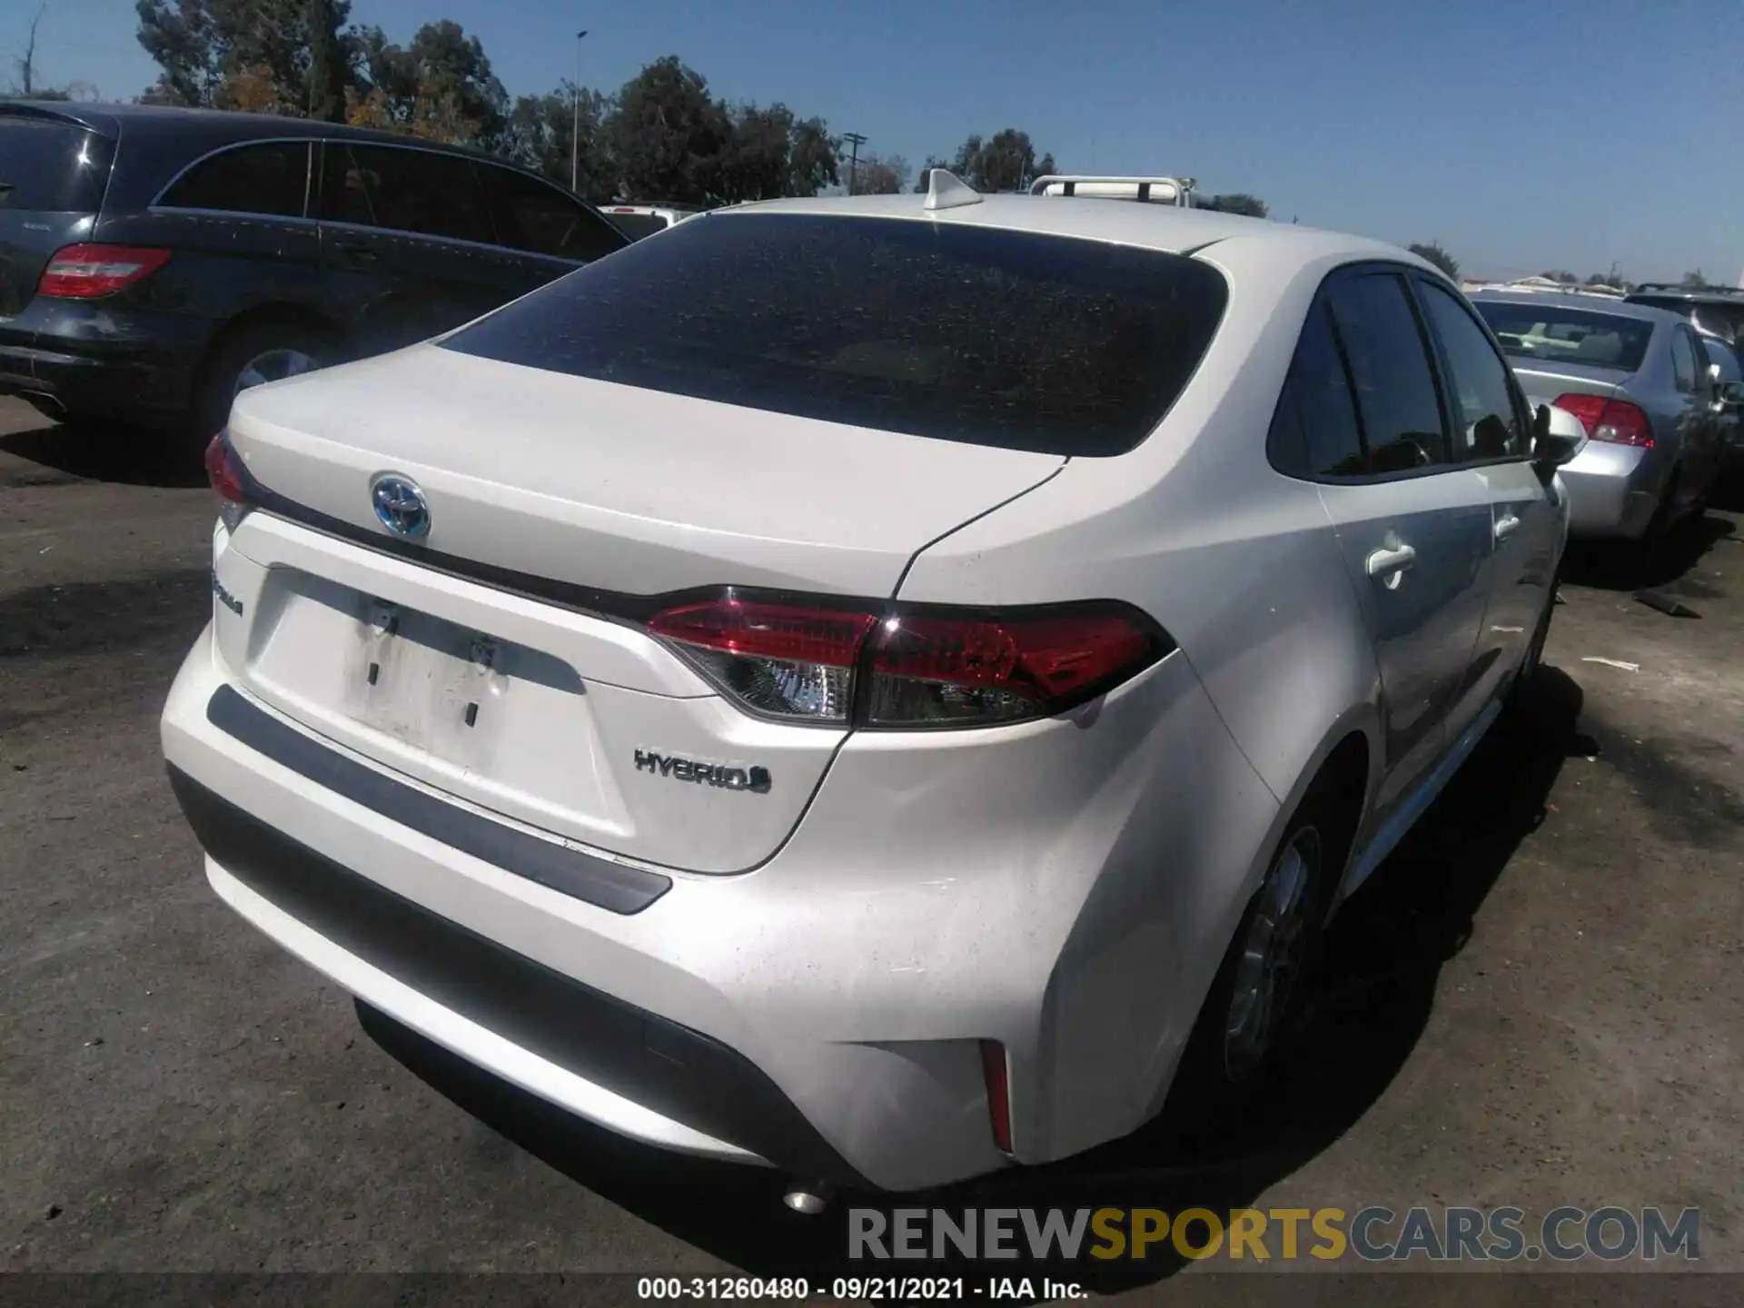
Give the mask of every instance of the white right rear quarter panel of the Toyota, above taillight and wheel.
[[[1071, 460], [1038, 492], [928, 546], [902, 598], [1135, 603], [1181, 645], [1242, 752], [1285, 799], [1334, 724], [1378, 692], [1318, 488], [1266, 460], [1308, 303], [1353, 260], [1280, 272], [1259, 251], [1221, 256], [1240, 244], [1257, 242], [1202, 255], [1230, 277], [1230, 310], [1160, 429], [1127, 455]], [[1282, 293], [1266, 284], [1278, 276]], [[1254, 286], [1245, 295], [1243, 281]]]

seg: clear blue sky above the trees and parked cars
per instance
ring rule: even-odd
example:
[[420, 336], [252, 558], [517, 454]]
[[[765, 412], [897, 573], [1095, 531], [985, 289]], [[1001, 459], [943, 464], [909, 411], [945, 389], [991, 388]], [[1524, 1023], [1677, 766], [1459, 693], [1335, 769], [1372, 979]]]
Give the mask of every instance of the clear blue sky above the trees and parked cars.
[[[23, 49], [33, 0], [0, 5]], [[49, 0], [47, 82], [155, 77], [133, 0]], [[1062, 167], [1184, 173], [1285, 221], [1439, 241], [1468, 272], [1744, 270], [1744, 9], [1577, 0], [356, 0], [405, 40], [453, 17], [511, 92], [614, 89], [678, 54], [910, 164], [1015, 126]]]

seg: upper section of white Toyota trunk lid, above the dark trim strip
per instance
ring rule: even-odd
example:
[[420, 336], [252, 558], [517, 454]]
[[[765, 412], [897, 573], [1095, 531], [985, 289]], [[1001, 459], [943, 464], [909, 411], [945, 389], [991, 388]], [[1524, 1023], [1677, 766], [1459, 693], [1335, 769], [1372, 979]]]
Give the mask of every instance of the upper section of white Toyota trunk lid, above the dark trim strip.
[[637, 595], [889, 595], [909, 558], [1059, 455], [842, 427], [417, 345], [237, 398], [269, 490], [382, 541], [410, 478], [438, 555]]

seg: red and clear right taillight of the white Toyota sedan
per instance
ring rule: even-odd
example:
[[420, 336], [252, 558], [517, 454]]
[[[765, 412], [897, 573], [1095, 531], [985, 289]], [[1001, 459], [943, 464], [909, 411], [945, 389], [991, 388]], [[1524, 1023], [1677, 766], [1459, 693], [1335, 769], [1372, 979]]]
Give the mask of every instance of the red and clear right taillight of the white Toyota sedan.
[[1121, 603], [942, 610], [724, 595], [666, 609], [649, 630], [753, 713], [886, 729], [1048, 717], [1174, 649]]

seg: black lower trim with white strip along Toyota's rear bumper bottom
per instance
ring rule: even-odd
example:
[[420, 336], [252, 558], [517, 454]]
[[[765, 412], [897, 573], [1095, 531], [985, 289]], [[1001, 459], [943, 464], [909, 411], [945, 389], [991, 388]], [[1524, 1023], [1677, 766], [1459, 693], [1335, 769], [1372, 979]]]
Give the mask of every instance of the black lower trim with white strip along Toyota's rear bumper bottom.
[[420, 909], [174, 767], [169, 778], [213, 889], [399, 1022], [668, 1149], [865, 1184], [741, 1053]]

